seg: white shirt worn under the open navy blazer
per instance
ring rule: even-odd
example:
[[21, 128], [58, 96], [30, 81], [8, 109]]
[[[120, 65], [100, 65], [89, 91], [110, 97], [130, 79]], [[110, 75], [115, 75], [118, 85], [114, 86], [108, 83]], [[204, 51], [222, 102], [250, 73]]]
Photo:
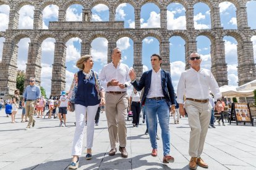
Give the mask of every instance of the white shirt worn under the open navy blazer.
[[151, 84], [147, 98], [152, 97], [164, 97], [161, 81], [161, 68], [157, 73], [154, 69], [152, 69]]

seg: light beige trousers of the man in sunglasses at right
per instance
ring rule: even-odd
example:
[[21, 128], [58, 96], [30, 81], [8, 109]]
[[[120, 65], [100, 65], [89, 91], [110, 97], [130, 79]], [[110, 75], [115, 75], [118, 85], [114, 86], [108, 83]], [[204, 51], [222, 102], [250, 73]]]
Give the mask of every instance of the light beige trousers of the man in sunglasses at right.
[[207, 103], [199, 103], [186, 100], [185, 109], [189, 117], [190, 139], [189, 139], [189, 155], [191, 157], [200, 157], [205, 144], [208, 126], [211, 118], [211, 105]]

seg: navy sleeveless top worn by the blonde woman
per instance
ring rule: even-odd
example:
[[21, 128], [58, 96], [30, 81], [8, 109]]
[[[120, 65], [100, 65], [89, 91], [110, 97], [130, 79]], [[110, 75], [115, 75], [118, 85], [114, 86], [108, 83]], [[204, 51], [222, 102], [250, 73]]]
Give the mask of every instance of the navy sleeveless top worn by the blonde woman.
[[75, 104], [83, 105], [85, 107], [98, 105], [100, 100], [98, 99], [98, 92], [95, 87], [94, 72], [91, 79], [85, 79], [83, 70], [77, 73], [77, 77], [78, 84], [77, 92], [75, 93]]

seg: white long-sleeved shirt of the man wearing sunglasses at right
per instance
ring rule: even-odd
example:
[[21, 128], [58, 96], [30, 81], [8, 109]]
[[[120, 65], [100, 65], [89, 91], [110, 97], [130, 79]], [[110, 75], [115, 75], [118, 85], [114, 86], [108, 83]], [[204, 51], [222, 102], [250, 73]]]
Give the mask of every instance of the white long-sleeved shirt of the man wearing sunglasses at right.
[[210, 90], [217, 100], [221, 97], [221, 92], [214, 76], [210, 70], [200, 68], [195, 71], [193, 68], [181, 73], [181, 78], [177, 85], [177, 103], [183, 103], [183, 96], [192, 99], [208, 99]]

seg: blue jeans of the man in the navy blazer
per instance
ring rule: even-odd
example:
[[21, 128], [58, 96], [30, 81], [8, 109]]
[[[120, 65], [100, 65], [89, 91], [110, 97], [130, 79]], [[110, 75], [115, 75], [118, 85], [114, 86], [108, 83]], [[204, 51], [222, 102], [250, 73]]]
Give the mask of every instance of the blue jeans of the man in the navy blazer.
[[157, 148], [156, 143], [156, 123], [157, 116], [161, 127], [161, 137], [163, 140], [163, 155], [169, 155], [170, 152], [170, 132], [169, 132], [169, 107], [165, 99], [155, 100], [146, 99], [146, 116], [148, 121], [148, 134], [152, 148]]

